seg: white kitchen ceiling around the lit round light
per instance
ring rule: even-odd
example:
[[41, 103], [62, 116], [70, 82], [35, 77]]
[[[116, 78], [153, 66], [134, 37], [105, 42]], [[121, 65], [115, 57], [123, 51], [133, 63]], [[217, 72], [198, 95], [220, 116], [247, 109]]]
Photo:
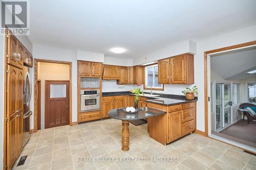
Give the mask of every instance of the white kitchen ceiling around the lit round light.
[[[255, 0], [31, 0], [30, 36], [44, 44], [141, 57], [183, 40], [256, 25]], [[127, 52], [113, 54], [112, 47]]]

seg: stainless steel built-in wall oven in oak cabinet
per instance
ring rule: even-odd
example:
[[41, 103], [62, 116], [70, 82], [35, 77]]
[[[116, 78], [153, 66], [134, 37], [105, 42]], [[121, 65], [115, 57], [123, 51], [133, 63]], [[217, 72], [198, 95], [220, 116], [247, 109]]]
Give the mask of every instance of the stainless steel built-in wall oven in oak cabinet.
[[81, 90], [80, 111], [87, 112], [100, 109], [100, 90]]

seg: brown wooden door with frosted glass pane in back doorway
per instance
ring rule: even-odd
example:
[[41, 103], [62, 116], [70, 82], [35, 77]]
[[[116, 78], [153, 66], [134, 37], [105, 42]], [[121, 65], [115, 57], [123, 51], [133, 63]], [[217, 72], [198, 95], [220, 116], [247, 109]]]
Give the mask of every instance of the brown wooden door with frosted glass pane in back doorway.
[[69, 81], [45, 82], [45, 128], [69, 125]]

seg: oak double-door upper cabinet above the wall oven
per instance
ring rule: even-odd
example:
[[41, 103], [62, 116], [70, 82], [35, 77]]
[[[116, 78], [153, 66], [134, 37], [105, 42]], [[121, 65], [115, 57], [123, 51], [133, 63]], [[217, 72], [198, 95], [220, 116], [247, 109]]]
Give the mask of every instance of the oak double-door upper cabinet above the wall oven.
[[101, 63], [78, 61], [78, 75], [101, 76]]

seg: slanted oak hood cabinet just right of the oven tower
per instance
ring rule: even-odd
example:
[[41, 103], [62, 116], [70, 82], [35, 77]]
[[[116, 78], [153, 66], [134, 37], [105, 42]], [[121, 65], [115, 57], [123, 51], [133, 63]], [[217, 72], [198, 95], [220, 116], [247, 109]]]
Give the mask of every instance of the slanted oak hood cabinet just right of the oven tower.
[[116, 65], [103, 65], [102, 79], [105, 80], [119, 80], [120, 66]]

